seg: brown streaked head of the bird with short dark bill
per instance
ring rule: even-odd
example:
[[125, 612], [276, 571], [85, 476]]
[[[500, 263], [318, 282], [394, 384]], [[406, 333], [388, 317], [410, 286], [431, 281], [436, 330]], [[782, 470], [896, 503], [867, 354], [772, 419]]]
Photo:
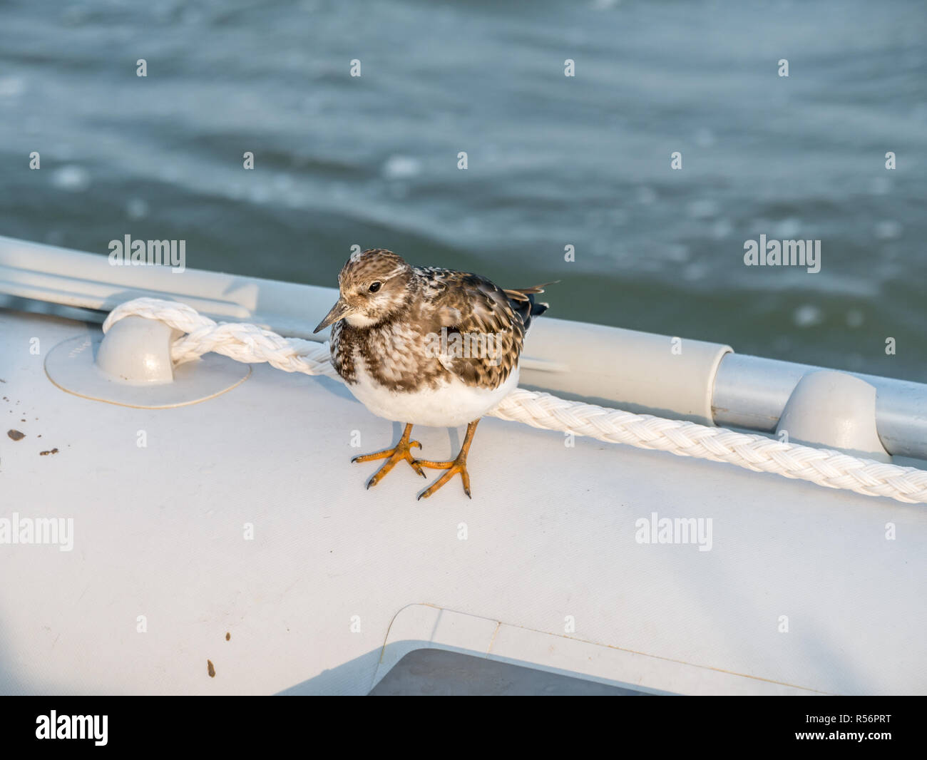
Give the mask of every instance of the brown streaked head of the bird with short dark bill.
[[392, 251], [368, 248], [355, 253], [338, 274], [337, 303], [319, 326], [345, 320], [352, 327], [370, 327], [387, 319], [408, 303], [412, 267]]

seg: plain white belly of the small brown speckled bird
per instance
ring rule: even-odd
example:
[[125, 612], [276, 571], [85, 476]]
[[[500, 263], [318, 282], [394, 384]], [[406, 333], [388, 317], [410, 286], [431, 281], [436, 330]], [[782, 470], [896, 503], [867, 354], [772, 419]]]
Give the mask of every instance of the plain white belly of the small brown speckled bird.
[[518, 385], [518, 370], [495, 390], [466, 386], [456, 377], [443, 386], [413, 392], [396, 392], [375, 383], [362, 361], [355, 365], [357, 382], [348, 388], [368, 410], [397, 423], [430, 427], [457, 427], [489, 412]]

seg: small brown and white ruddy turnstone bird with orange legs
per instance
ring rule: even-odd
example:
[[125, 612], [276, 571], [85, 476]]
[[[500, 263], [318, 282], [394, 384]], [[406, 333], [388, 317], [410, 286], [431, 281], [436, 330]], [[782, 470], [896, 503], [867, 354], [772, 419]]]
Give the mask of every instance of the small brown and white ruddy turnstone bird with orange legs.
[[[367, 488], [405, 460], [423, 477], [423, 467], [445, 471], [419, 499], [457, 473], [470, 496], [466, 457], [476, 424], [518, 385], [527, 328], [547, 310], [534, 298], [543, 287], [504, 290], [478, 274], [410, 266], [383, 248], [351, 256], [338, 274], [337, 303], [314, 332], [335, 325], [332, 363], [350, 392], [376, 415], [405, 424], [395, 447], [352, 460], [386, 460]], [[413, 457], [412, 448], [422, 448], [410, 440], [413, 425], [464, 423], [453, 460]]]

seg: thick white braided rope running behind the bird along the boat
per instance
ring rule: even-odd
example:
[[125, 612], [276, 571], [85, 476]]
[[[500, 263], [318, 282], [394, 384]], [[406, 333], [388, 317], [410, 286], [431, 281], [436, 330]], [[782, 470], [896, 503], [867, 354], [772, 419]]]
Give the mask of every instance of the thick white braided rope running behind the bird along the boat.
[[[103, 332], [128, 316], [159, 320], [184, 333], [171, 346], [171, 358], [175, 363], [192, 361], [215, 351], [235, 361], [267, 361], [285, 372], [324, 374], [341, 379], [332, 367], [327, 343], [281, 337], [255, 324], [216, 323], [189, 306], [159, 298], [135, 298], [116, 307], [103, 323]], [[927, 472], [923, 470], [736, 433], [723, 427], [606, 409], [523, 388], [516, 388], [488, 413], [545, 430], [728, 462], [756, 472], [808, 480], [826, 488], [845, 488], [867, 496], [927, 503]]]

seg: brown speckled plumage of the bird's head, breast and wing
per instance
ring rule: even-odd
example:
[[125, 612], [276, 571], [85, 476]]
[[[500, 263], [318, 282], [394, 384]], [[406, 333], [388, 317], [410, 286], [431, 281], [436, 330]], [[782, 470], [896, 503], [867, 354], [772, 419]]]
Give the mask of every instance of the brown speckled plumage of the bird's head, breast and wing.
[[[381, 284], [375, 294], [369, 293], [372, 283]], [[412, 267], [382, 248], [352, 256], [338, 285], [360, 315], [355, 320], [365, 323], [334, 324], [338, 374], [352, 384], [365, 371], [376, 384], [400, 392], [436, 387], [451, 376], [467, 386], [501, 386], [517, 366], [531, 317], [547, 309], [534, 300], [540, 286], [503, 290], [478, 274]], [[487, 340], [494, 350], [436, 356], [436, 336], [445, 337], [445, 346], [463, 336], [492, 336]]]

